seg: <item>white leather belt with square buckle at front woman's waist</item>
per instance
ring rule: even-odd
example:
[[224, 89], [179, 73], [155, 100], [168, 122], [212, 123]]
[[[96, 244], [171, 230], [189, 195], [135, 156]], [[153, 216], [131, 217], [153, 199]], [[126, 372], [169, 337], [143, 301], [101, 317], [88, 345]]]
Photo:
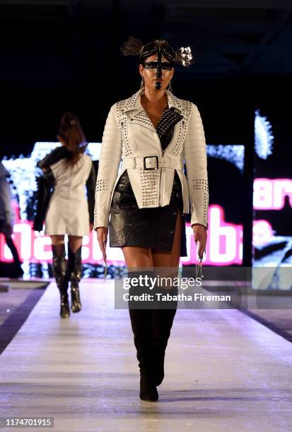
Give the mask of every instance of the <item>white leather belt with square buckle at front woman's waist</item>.
[[145, 157], [127, 157], [122, 160], [122, 168], [144, 168], [144, 169], [158, 169], [174, 168], [179, 171], [183, 171], [183, 164], [181, 160], [174, 159], [165, 155], [163, 157], [158, 156], [145, 156]]

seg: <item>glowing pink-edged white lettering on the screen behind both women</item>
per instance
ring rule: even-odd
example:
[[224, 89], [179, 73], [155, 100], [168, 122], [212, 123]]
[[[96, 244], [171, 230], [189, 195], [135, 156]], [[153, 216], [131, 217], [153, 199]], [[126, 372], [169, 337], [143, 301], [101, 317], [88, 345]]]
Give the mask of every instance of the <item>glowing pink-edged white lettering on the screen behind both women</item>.
[[[18, 211], [16, 209], [16, 215]], [[197, 260], [197, 248], [190, 224], [186, 226], [187, 257], [181, 263], [192, 264]], [[52, 260], [51, 240], [32, 229], [32, 222], [16, 218], [13, 237], [23, 260], [31, 263], [47, 263]], [[103, 263], [95, 232], [83, 238], [82, 258], [84, 263]], [[107, 247], [108, 263], [124, 265], [121, 248]], [[11, 254], [3, 236], [0, 244], [0, 260], [10, 261]], [[241, 264], [243, 260], [243, 227], [226, 223], [223, 208], [220, 205], [209, 207], [209, 231], [204, 263], [208, 265]]]

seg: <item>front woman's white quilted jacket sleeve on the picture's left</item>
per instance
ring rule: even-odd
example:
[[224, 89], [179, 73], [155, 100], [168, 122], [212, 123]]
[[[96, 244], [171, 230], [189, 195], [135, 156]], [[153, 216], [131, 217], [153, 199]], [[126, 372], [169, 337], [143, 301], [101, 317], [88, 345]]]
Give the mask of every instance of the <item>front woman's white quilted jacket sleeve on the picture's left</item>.
[[116, 109], [116, 104], [112, 105], [103, 131], [95, 188], [94, 229], [109, 225], [110, 198], [122, 157], [122, 137], [117, 126]]

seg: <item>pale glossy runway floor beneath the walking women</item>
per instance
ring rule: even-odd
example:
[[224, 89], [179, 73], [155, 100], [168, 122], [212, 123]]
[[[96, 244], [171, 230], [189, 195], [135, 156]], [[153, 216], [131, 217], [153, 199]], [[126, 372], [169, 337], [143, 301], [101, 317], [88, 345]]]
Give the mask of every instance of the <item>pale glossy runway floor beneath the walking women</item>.
[[142, 402], [129, 312], [113, 294], [112, 281], [83, 281], [82, 311], [62, 320], [49, 284], [0, 356], [2, 419], [54, 417], [54, 431], [78, 432], [291, 431], [291, 342], [240, 311], [178, 310], [159, 400]]

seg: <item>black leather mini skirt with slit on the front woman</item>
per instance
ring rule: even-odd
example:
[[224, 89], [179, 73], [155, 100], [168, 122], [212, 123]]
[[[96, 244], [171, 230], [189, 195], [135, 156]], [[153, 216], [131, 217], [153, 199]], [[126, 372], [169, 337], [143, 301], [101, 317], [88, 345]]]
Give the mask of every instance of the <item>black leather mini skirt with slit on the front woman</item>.
[[176, 171], [169, 205], [139, 208], [126, 169], [117, 182], [112, 196], [110, 247], [141, 246], [171, 251], [176, 218], [180, 215], [182, 219], [180, 256], [187, 256], [185, 215], [182, 214], [182, 209], [182, 186]]

